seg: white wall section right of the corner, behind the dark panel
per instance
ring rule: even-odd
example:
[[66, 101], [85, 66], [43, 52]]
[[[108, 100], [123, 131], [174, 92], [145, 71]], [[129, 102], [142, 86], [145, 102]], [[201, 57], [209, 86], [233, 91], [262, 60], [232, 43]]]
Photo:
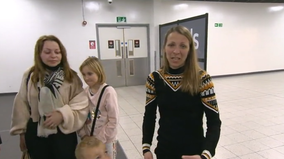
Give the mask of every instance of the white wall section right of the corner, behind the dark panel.
[[[284, 69], [284, 10], [270, 11], [283, 3], [155, 0], [154, 5], [155, 25], [209, 13], [207, 71], [211, 75]], [[215, 28], [214, 23], [223, 27]], [[159, 50], [157, 43], [155, 50]]]

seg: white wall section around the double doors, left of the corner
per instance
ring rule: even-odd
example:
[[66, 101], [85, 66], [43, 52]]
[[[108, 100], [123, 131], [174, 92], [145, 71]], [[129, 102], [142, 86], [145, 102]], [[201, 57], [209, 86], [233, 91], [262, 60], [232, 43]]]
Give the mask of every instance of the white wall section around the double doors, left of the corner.
[[[116, 23], [117, 16], [126, 16], [128, 23], [146, 23], [153, 28], [152, 0], [113, 0], [111, 5], [107, 0], [84, 3], [88, 22], [85, 27], [81, 25], [81, 0], [0, 1], [0, 93], [18, 92], [23, 72], [33, 65], [36, 40], [43, 34], [60, 38], [71, 67], [79, 72], [79, 65], [88, 56], [97, 56], [97, 49], [89, 50], [89, 40], [97, 40], [96, 23]], [[152, 30], [150, 34], [154, 39]], [[151, 62], [153, 69], [154, 61]]]

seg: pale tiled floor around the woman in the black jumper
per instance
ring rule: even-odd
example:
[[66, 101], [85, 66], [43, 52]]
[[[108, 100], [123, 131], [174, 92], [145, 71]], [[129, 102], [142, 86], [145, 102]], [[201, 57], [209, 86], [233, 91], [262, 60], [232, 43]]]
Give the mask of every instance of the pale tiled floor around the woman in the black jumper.
[[[215, 159], [284, 158], [283, 79], [283, 72], [213, 79], [222, 120]], [[145, 88], [116, 91], [120, 105], [118, 139], [129, 159], [141, 159]], [[153, 150], [156, 137], [155, 133]]]

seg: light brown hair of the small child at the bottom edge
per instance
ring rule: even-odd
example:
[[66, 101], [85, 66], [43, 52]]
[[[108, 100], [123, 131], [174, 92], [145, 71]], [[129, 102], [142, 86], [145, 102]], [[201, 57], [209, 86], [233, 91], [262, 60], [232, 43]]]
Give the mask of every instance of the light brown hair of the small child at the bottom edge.
[[102, 141], [97, 139], [95, 136], [86, 136], [81, 140], [81, 142], [76, 146], [75, 156], [77, 159], [84, 159], [82, 153], [83, 149], [98, 147], [102, 144]]

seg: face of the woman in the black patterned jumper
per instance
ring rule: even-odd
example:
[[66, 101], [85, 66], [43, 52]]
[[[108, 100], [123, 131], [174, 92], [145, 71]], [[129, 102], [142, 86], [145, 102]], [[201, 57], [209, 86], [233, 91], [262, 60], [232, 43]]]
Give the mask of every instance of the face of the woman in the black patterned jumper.
[[189, 40], [186, 36], [177, 32], [169, 34], [165, 46], [169, 66], [173, 69], [182, 67], [187, 59], [189, 49]]

